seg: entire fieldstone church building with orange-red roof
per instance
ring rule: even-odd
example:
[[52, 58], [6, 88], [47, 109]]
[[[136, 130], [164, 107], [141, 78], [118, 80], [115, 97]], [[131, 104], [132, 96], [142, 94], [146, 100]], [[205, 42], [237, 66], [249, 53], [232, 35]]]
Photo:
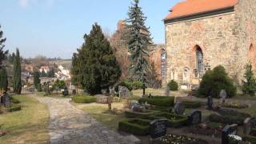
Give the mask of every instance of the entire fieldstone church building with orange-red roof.
[[255, 0], [185, 0], [170, 10], [166, 26], [166, 82], [190, 87], [222, 65], [241, 82], [249, 62], [256, 70]]

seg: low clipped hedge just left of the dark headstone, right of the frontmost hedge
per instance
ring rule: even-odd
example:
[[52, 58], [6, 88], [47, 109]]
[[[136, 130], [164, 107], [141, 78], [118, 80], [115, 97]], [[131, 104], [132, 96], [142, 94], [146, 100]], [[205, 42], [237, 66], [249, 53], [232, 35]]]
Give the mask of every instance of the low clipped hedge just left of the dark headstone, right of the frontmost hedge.
[[162, 114], [155, 115], [155, 117], [156, 118], [166, 118], [167, 126], [169, 126], [169, 127], [185, 126], [188, 122], [187, 116], [176, 115], [176, 114], [162, 113]]

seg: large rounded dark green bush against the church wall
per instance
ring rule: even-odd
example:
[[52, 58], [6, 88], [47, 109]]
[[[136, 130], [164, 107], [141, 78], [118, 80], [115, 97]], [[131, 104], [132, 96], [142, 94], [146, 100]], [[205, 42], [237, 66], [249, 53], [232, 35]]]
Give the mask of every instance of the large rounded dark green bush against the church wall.
[[202, 77], [198, 96], [208, 97], [211, 95], [214, 98], [219, 98], [221, 90], [226, 90], [226, 94], [229, 98], [237, 94], [237, 88], [234, 86], [234, 82], [228, 76], [224, 67], [217, 66], [214, 70], [208, 70]]

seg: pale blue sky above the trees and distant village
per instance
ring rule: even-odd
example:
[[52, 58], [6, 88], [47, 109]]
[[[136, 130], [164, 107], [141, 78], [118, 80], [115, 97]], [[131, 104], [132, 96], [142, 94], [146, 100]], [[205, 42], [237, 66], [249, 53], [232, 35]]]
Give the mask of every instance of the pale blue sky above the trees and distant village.
[[[132, 0], [0, 0], [0, 25], [6, 50], [20, 50], [22, 57], [45, 55], [72, 58], [82, 46], [83, 35], [94, 22], [114, 33], [117, 22], [127, 18]], [[154, 43], [165, 42], [162, 19], [180, 0], [141, 0], [146, 26]]]

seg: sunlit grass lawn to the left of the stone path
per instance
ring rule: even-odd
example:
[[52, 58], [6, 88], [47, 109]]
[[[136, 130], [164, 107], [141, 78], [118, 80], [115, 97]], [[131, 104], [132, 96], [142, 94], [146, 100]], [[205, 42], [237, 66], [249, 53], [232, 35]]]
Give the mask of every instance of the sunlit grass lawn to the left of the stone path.
[[49, 110], [45, 104], [26, 95], [14, 96], [21, 103], [22, 110], [0, 114], [0, 125], [7, 134], [0, 137], [0, 143], [49, 143]]

